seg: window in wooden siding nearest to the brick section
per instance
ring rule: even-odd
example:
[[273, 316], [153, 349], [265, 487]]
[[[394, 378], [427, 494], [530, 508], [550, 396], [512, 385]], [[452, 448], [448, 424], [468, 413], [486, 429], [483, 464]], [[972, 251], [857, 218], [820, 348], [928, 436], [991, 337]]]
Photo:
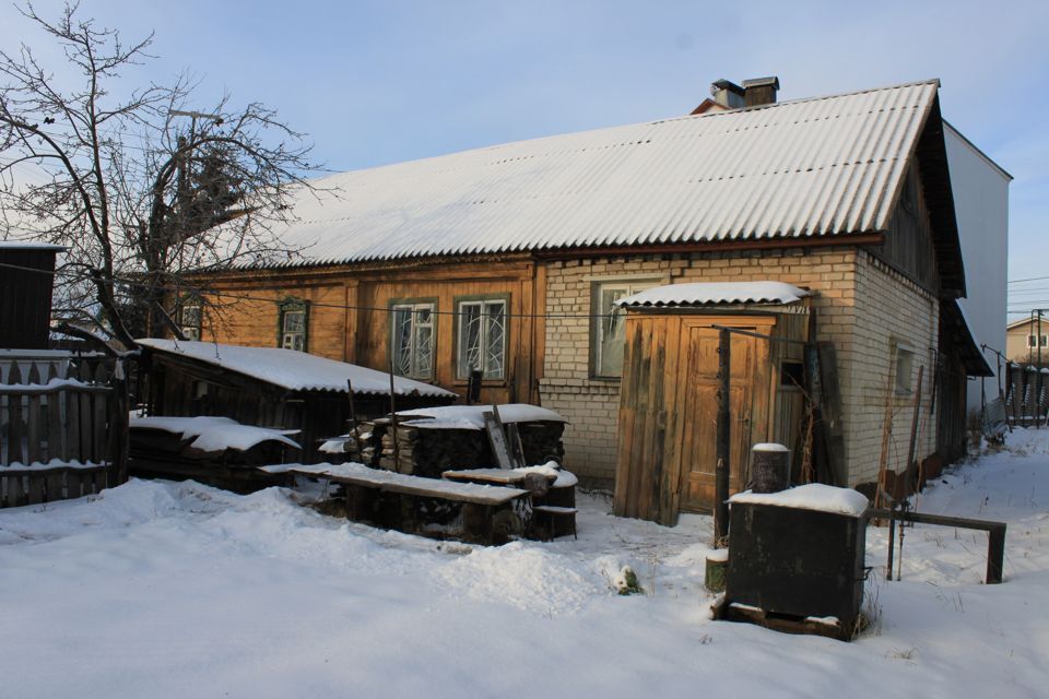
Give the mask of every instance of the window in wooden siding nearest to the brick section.
[[485, 379], [506, 377], [506, 298], [462, 300], [456, 307], [456, 376], [480, 369]]

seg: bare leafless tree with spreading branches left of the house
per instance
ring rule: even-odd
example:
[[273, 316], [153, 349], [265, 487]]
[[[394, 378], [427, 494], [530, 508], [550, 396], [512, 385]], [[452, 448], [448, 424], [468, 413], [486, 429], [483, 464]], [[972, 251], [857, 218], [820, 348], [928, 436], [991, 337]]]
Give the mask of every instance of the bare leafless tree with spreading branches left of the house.
[[[313, 168], [303, 134], [259, 104], [228, 97], [187, 110], [195, 84], [128, 91], [121, 71], [152, 58], [152, 34], [126, 44], [67, 4], [55, 21], [21, 12], [63, 50], [76, 75], [56, 79], [33, 49], [0, 50], [0, 211], [9, 230], [70, 248], [60, 279], [70, 313], [128, 346], [132, 318], [156, 335], [192, 272], [297, 254], [274, 224]], [[31, 166], [36, 177], [19, 177]], [[0, 224], [2, 225], [2, 224]]]

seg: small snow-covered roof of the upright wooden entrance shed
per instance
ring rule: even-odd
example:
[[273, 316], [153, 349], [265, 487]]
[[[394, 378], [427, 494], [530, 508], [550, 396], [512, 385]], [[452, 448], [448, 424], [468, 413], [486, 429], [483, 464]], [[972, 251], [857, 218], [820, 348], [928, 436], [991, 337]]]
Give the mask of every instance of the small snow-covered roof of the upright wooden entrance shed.
[[621, 298], [617, 306], [673, 307], [716, 304], [794, 304], [809, 292], [783, 282], [693, 282], [668, 284]]

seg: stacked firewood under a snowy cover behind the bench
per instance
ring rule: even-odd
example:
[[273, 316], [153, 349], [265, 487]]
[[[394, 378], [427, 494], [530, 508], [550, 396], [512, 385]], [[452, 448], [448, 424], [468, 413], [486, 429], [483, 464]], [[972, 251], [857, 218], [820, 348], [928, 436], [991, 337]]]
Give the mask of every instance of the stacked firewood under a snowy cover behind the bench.
[[[422, 422], [414, 418], [412, 422]], [[519, 423], [521, 446], [527, 465], [561, 461], [565, 453], [562, 435], [564, 423]], [[428, 429], [416, 425], [398, 425], [397, 451], [389, 418], [362, 425], [362, 433], [372, 433], [361, 461], [387, 471], [439, 478], [445, 471], [496, 466], [488, 438], [481, 429]], [[375, 454], [378, 453], [378, 459]], [[373, 459], [367, 459], [372, 455]]]

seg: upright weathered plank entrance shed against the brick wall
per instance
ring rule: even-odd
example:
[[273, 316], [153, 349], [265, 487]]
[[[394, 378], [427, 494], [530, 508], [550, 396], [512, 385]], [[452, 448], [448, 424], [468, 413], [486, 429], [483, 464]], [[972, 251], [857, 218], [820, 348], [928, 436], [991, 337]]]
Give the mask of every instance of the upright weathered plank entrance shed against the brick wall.
[[627, 315], [616, 514], [673, 524], [680, 511], [714, 508], [722, 327], [750, 333], [731, 334], [730, 491], [749, 481], [751, 445], [779, 441], [794, 450], [810, 295], [774, 281], [694, 283], [620, 301]]

